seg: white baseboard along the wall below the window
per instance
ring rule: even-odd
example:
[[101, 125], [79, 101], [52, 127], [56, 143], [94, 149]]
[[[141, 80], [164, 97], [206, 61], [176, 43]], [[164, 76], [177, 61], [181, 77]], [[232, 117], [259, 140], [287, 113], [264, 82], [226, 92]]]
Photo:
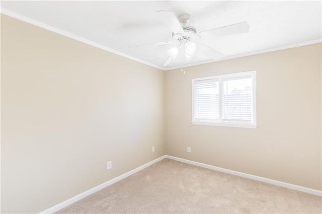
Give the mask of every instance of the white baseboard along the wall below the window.
[[208, 164], [204, 164], [204, 163], [199, 163], [199, 162], [195, 162], [195, 161], [191, 161], [191, 160], [186, 160], [186, 159], [183, 159], [183, 158], [173, 157], [173, 156], [170, 156], [170, 155], [165, 155], [165, 156], [166, 156], [166, 158], [176, 160], [176, 161], [180, 161], [180, 162], [183, 162], [183, 163], [188, 163], [188, 164], [191, 164], [191, 165], [216, 170], [216, 171], [219, 171], [219, 172], [224, 172], [224, 173], [228, 173], [228, 174], [232, 174], [232, 175], [237, 175], [237, 176], [249, 178], [249, 179], [252, 179], [252, 180], [258, 180], [258, 181], [262, 181], [262, 182], [265, 182], [265, 183], [274, 184], [276, 186], [282, 186], [282, 187], [285, 187], [285, 188], [294, 189], [294, 190], [297, 190], [297, 191], [322, 196], [322, 191], [320, 191], [320, 190], [310, 189], [310, 188], [307, 188], [307, 187], [304, 187], [304, 186], [298, 186], [298, 185], [294, 185], [294, 184], [291, 184], [291, 183], [285, 183], [285, 182], [282, 182], [282, 181], [273, 180], [273, 179], [269, 179], [269, 178], [264, 178], [264, 177], [260, 177], [260, 176], [256, 176], [256, 175], [251, 175], [251, 174], [247, 174], [247, 173], [244, 173], [244, 172], [237, 172], [237, 171], [233, 171], [233, 170], [230, 170], [230, 169], [224, 169], [224, 168], [220, 168], [220, 167], [216, 167], [216, 166], [212, 166], [212, 165], [208, 165]]

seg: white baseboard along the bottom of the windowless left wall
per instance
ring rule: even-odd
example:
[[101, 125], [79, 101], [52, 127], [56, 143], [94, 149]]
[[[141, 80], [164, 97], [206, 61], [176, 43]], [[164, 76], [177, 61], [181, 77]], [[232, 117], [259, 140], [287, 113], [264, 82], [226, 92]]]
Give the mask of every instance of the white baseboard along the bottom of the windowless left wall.
[[113, 179], [111, 179], [111, 180], [109, 180], [109, 181], [107, 181], [105, 183], [102, 183], [102, 184], [100, 184], [100, 185], [98, 185], [96, 187], [93, 187], [92, 189], [89, 189], [89, 190], [87, 190], [87, 191], [85, 191], [85, 192], [83, 192], [81, 194], [78, 194], [78, 195], [72, 197], [72, 198], [69, 198], [69, 199], [67, 199], [67, 200], [65, 200], [65, 201], [63, 201], [63, 202], [61, 202], [61, 203], [59, 203], [59, 204], [57, 204], [55, 206], [52, 206], [52, 207], [50, 207], [50, 208], [48, 208], [48, 209], [46, 209], [46, 210], [44, 210], [44, 211], [42, 211], [40, 213], [53, 213], [53, 212], [56, 212], [56, 211], [58, 211], [58, 210], [60, 210], [62, 208], [65, 208], [66, 206], [69, 206], [70, 204], [72, 204], [72, 203], [74, 203], [74, 202], [76, 202], [78, 200], [81, 200], [81, 199], [83, 199], [83, 198], [85, 198], [85, 197], [87, 197], [87, 196], [89, 196], [89, 195], [101, 190], [101, 189], [104, 189], [105, 187], [108, 187], [108, 186], [110, 186], [110, 185], [112, 185], [112, 184], [114, 184], [114, 183], [116, 183], [116, 182], [118, 182], [118, 181], [120, 181], [120, 180], [122, 180], [122, 179], [124, 179], [124, 178], [126, 178], [126, 177], [128, 177], [128, 176], [130, 176], [130, 175], [132, 175], [132, 174], [134, 174], [136, 172], [138, 172], [138, 171], [141, 171], [142, 169], [144, 169], [144, 168], [146, 168], [146, 167], [148, 167], [148, 166], [150, 166], [150, 165], [152, 165], [152, 164], [154, 164], [154, 163], [156, 163], [156, 162], [158, 162], [160, 160], [163, 160], [165, 158], [166, 158], [166, 155], [161, 156], [159, 158], [156, 158], [155, 160], [152, 160], [152, 161], [150, 161], [150, 162], [148, 162], [146, 164], [143, 164], [142, 166], [139, 166], [139, 167], [137, 167], [137, 168], [135, 168], [135, 169], [133, 169], [133, 170], [131, 170], [129, 172], [126, 172], [126, 173], [124, 173], [124, 174], [122, 174], [122, 175], [120, 175], [120, 176], [118, 176], [116, 178], [113, 178]]

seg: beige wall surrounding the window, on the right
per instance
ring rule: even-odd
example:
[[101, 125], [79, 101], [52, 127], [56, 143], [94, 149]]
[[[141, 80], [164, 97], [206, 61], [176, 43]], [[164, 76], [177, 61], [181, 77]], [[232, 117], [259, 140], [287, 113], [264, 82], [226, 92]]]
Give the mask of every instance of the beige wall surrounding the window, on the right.
[[[321, 57], [319, 43], [166, 71], [166, 154], [321, 190]], [[250, 70], [257, 129], [190, 123], [192, 78]]]

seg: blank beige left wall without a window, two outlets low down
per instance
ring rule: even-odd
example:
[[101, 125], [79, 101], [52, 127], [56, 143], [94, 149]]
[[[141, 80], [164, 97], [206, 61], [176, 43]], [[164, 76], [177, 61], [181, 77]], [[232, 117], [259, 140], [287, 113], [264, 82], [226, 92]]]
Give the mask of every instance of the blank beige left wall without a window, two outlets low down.
[[40, 212], [164, 155], [163, 71], [4, 15], [1, 31], [2, 213]]

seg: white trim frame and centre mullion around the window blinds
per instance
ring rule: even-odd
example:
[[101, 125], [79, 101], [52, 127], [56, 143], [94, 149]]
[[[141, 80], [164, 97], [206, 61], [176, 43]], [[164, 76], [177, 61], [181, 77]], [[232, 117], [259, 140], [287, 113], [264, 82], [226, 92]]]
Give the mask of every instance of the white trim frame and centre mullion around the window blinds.
[[[244, 123], [244, 122], [205, 122], [205, 121], [195, 121], [195, 108], [194, 108], [194, 81], [198, 80], [207, 80], [207, 79], [219, 79], [219, 90], [221, 90], [221, 78], [225, 77], [235, 77], [235, 76], [241, 76], [241, 75], [253, 75], [253, 123]], [[240, 127], [240, 128], [257, 128], [257, 112], [256, 112], [256, 70], [254, 71], [245, 71], [245, 72], [238, 72], [238, 73], [230, 73], [230, 74], [222, 74], [222, 75], [216, 75], [216, 76], [207, 76], [207, 77], [199, 77], [194, 78], [191, 80], [191, 90], [192, 90], [192, 124], [195, 125], [207, 125], [207, 126], [223, 126], [223, 127]], [[221, 92], [220, 92], [221, 94]], [[219, 96], [221, 97], [221, 96]], [[221, 100], [219, 102], [219, 105], [221, 106]], [[220, 107], [221, 108], [221, 107]], [[221, 114], [219, 114], [220, 120], [221, 120]]]

